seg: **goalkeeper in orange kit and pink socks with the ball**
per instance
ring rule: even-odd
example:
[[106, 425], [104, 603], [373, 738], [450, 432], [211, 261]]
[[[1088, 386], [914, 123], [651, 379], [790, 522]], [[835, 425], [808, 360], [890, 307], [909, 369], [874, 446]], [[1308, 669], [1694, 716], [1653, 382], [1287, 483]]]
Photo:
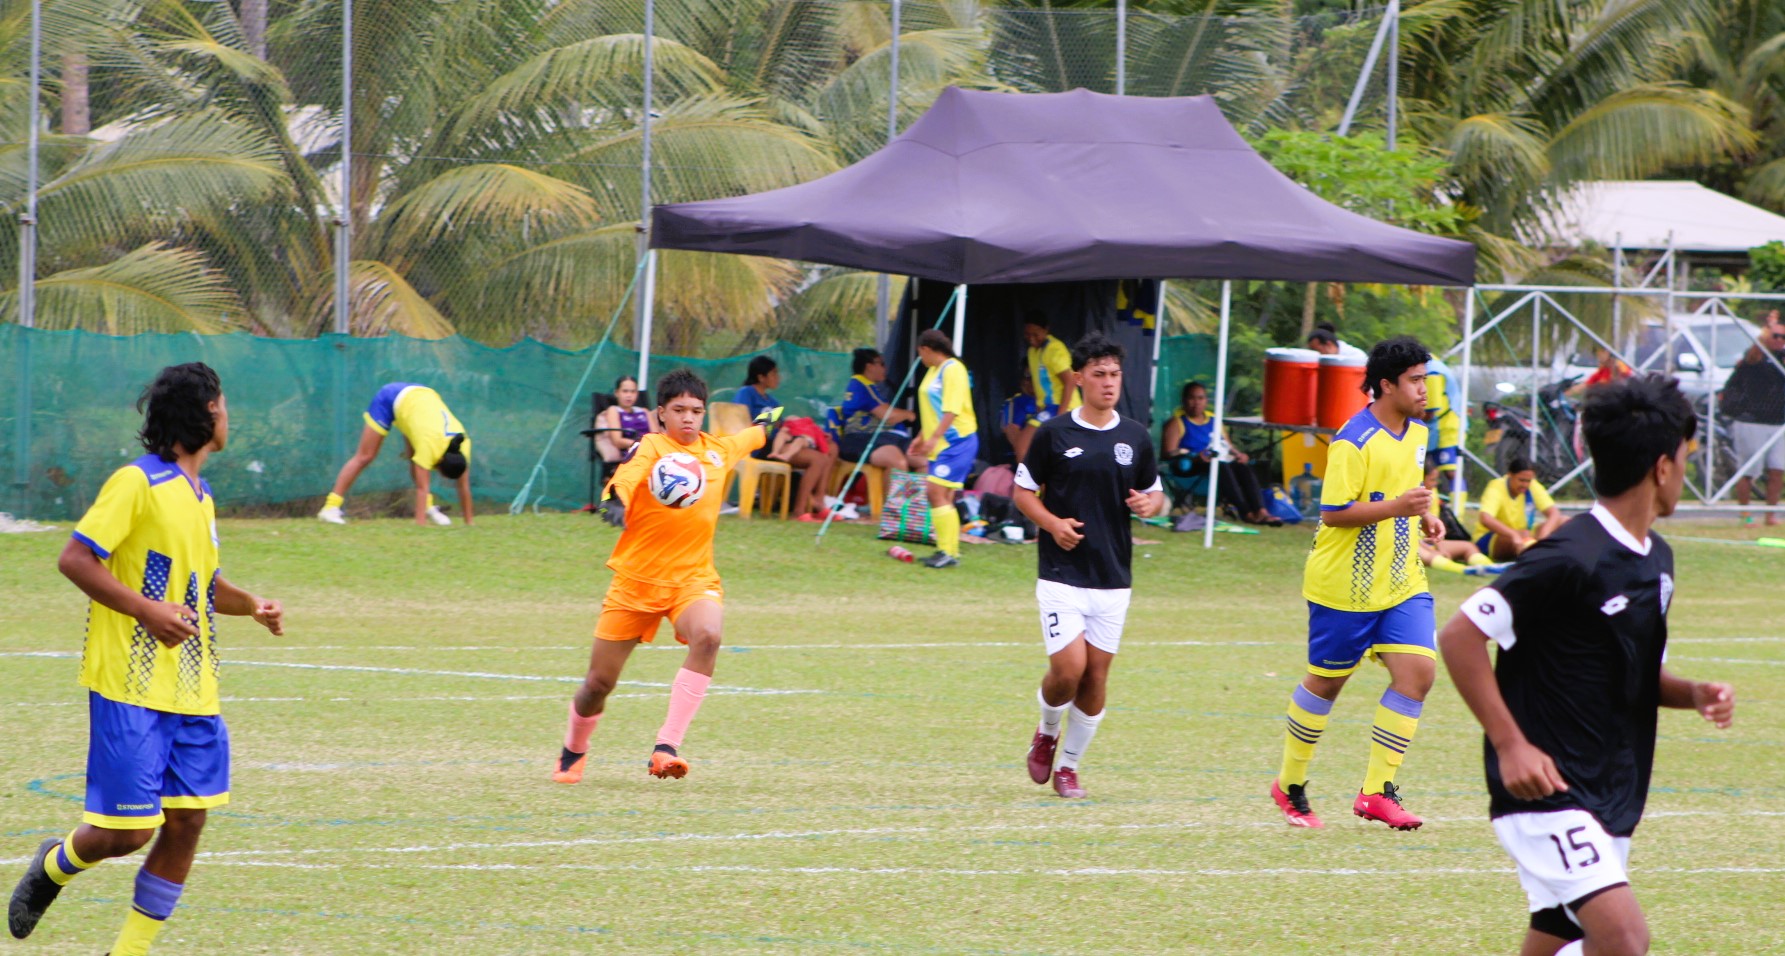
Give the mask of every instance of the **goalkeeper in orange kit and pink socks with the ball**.
[[[725, 619], [725, 589], [712, 565], [712, 533], [719, 524], [725, 474], [768, 444], [780, 423], [780, 408], [766, 408], [757, 416], [759, 424], [726, 437], [702, 432], [705, 416], [705, 382], [687, 369], [662, 376], [657, 382], [662, 432], [643, 435], [607, 485], [602, 514], [625, 530], [607, 560], [614, 581], [594, 624], [589, 671], [569, 701], [564, 749], [552, 772], [559, 783], [582, 781], [589, 735], [607, 710], [607, 696], [619, 683], [632, 649], [641, 640], [650, 644], [664, 617], [675, 628], [675, 639], [687, 646], [687, 660], [669, 685], [669, 713], [657, 731], [650, 772], [657, 778], [687, 774], [687, 760], [678, 751], [712, 683]], [[707, 473], [707, 492], [685, 508], [671, 508], [650, 492], [652, 464], [678, 451], [698, 458]]]

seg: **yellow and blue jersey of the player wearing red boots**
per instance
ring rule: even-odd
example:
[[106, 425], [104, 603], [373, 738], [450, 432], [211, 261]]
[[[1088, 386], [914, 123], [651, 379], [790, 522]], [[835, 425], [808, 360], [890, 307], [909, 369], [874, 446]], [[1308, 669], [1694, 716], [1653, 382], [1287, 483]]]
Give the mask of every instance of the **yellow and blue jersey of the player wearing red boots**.
[[[1364, 408], [1333, 435], [1326, 451], [1321, 512], [1399, 498], [1424, 480], [1424, 423], [1408, 421], [1394, 433]], [[1391, 517], [1364, 528], [1321, 523], [1308, 551], [1301, 594], [1335, 610], [1387, 610], [1426, 594], [1419, 519]]]

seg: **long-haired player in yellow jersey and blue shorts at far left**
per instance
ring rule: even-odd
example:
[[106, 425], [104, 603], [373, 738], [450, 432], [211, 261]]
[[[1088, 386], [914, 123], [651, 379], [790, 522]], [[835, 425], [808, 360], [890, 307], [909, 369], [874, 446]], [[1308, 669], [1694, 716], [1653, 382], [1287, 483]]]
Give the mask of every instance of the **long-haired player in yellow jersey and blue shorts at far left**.
[[70, 879], [136, 853], [159, 829], [112, 956], [148, 952], [186, 888], [205, 812], [228, 803], [216, 615], [284, 633], [278, 601], [218, 571], [216, 507], [198, 476], [228, 442], [218, 375], [198, 362], [161, 369], [137, 408], [148, 455], [112, 473], [57, 562], [91, 598], [80, 653], [86, 813], [66, 838], [37, 847], [7, 908], [7, 927], [23, 940]]

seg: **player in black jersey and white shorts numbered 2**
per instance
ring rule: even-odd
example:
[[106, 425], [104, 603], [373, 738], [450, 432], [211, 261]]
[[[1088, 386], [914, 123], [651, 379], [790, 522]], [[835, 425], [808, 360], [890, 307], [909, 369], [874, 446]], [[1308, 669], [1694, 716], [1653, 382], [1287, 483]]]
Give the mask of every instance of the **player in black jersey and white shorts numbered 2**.
[[[1016, 505], [1041, 528], [1041, 728], [1028, 746], [1028, 776], [1053, 778], [1053, 792], [1083, 797], [1078, 762], [1103, 721], [1103, 687], [1121, 644], [1133, 583], [1130, 514], [1164, 510], [1153, 439], [1116, 412], [1123, 348], [1101, 332], [1073, 346], [1083, 405], [1035, 430], [1016, 471]], [[1060, 721], [1071, 712], [1066, 740]], [[1055, 749], [1060, 767], [1055, 771]]]

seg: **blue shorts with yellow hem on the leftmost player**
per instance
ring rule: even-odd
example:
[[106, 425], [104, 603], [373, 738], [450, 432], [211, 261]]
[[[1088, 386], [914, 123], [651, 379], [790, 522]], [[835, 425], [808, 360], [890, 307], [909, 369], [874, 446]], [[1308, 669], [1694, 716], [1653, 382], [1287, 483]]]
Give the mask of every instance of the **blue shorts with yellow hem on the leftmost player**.
[[162, 810], [228, 803], [228, 728], [121, 705], [87, 692], [87, 803], [82, 819], [105, 829], [154, 829]]

